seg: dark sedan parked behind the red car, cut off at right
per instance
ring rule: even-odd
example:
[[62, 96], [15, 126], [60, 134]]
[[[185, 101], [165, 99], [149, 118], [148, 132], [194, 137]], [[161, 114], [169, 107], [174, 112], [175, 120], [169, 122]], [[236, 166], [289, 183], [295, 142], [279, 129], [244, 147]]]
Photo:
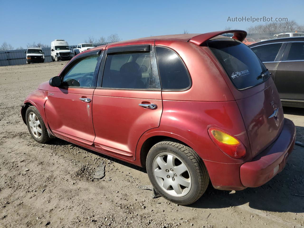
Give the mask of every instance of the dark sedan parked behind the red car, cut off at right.
[[271, 72], [283, 106], [304, 108], [304, 36], [249, 46]]

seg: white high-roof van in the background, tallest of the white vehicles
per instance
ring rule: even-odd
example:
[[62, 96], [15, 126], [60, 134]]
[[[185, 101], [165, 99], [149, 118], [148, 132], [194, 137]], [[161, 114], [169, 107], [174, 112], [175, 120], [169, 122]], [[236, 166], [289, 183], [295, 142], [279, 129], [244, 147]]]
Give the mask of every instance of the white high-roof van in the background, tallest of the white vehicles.
[[52, 61], [71, 60], [72, 51], [69, 44], [65, 40], [54, 40], [51, 42], [51, 58]]

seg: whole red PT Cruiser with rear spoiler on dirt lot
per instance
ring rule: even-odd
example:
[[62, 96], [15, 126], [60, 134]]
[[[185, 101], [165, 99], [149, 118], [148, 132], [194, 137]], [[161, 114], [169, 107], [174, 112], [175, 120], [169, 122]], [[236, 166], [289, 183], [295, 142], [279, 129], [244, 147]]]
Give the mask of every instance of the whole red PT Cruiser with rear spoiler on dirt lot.
[[209, 179], [224, 190], [263, 185], [284, 168], [295, 126], [246, 35], [155, 36], [84, 51], [28, 95], [23, 121], [39, 143], [56, 136], [146, 167], [154, 189], [181, 205]]

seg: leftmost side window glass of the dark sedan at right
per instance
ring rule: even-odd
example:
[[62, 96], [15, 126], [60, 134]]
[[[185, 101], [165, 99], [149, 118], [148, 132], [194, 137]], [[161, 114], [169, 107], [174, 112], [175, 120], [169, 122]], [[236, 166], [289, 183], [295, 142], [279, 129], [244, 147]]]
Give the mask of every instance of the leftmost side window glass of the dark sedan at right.
[[283, 43], [274, 43], [251, 48], [262, 62], [273, 62]]

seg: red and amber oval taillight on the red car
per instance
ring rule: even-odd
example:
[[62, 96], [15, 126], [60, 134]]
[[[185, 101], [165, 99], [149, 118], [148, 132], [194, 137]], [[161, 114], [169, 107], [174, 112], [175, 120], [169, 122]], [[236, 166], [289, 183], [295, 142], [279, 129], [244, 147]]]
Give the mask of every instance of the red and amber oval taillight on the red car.
[[243, 143], [226, 132], [210, 127], [208, 133], [212, 141], [228, 156], [240, 159], [246, 156], [246, 148]]

